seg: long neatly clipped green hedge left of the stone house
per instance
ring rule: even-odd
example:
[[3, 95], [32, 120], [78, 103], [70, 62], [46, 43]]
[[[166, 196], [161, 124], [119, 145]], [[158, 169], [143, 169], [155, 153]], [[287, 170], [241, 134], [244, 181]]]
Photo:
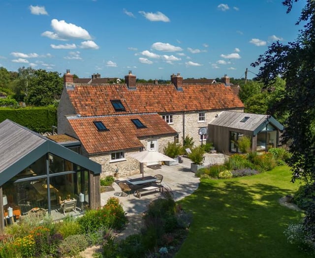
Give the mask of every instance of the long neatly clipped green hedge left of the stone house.
[[10, 119], [37, 133], [51, 132], [57, 126], [56, 107], [0, 108], [0, 122]]

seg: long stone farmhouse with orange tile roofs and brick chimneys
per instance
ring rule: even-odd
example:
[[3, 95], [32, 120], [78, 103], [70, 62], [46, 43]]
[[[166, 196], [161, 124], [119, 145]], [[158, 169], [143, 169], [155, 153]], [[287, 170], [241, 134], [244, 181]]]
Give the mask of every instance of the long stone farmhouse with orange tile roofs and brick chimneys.
[[[177, 138], [182, 143], [188, 135], [199, 145], [199, 128], [207, 127], [218, 112], [244, 109], [232, 88], [224, 84], [186, 84], [179, 74], [171, 76], [171, 84], [137, 84], [131, 71], [125, 82], [79, 84], [69, 70], [64, 75], [58, 133], [78, 139], [82, 154], [97, 156], [98, 162], [103, 156], [103, 174], [113, 174], [117, 167], [120, 173], [130, 173], [124, 167], [129, 168], [126, 164], [131, 160], [115, 159], [115, 152], [122, 157], [148, 147], [162, 152], [167, 142]], [[147, 127], [136, 128], [132, 117]], [[93, 121], [102, 121], [109, 130], [96, 132]]]

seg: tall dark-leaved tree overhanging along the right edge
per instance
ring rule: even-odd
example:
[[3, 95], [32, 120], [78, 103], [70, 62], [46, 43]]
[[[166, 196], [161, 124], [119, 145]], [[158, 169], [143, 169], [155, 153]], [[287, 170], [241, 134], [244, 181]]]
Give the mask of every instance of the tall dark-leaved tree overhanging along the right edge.
[[[293, 2], [285, 0], [287, 13]], [[289, 161], [292, 181], [315, 181], [315, 1], [307, 0], [297, 25], [306, 22], [299, 37], [286, 45], [273, 43], [252, 66], [263, 64], [258, 77], [270, 84], [279, 75], [285, 80], [285, 94], [280, 100], [287, 108], [284, 143], [293, 154]]]

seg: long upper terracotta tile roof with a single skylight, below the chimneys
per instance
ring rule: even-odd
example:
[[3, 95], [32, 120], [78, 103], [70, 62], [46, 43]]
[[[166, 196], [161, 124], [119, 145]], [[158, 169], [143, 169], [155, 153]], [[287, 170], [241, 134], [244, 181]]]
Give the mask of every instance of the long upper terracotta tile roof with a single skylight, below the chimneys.
[[[67, 92], [77, 114], [82, 116], [244, 108], [230, 86], [183, 84], [182, 87], [183, 91], [173, 84], [137, 84], [136, 89], [128, 89], [126, 84], [75, 85]], [[110, 102], [113, 99], [121, 100], [126, 111], [116, 112]]]

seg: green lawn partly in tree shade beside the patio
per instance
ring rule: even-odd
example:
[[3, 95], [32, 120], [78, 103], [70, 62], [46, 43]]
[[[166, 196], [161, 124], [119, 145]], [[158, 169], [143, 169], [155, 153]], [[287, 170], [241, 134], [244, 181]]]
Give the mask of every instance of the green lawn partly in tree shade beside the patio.
[[176, 258], [308, 258], [287, 243], [284, 230], [303, 213], [279, 199], [293, 194], [286, 166], [232, 179], [202, 179], [199, 188], [181, 200], [193, 213], [189, 235]]

